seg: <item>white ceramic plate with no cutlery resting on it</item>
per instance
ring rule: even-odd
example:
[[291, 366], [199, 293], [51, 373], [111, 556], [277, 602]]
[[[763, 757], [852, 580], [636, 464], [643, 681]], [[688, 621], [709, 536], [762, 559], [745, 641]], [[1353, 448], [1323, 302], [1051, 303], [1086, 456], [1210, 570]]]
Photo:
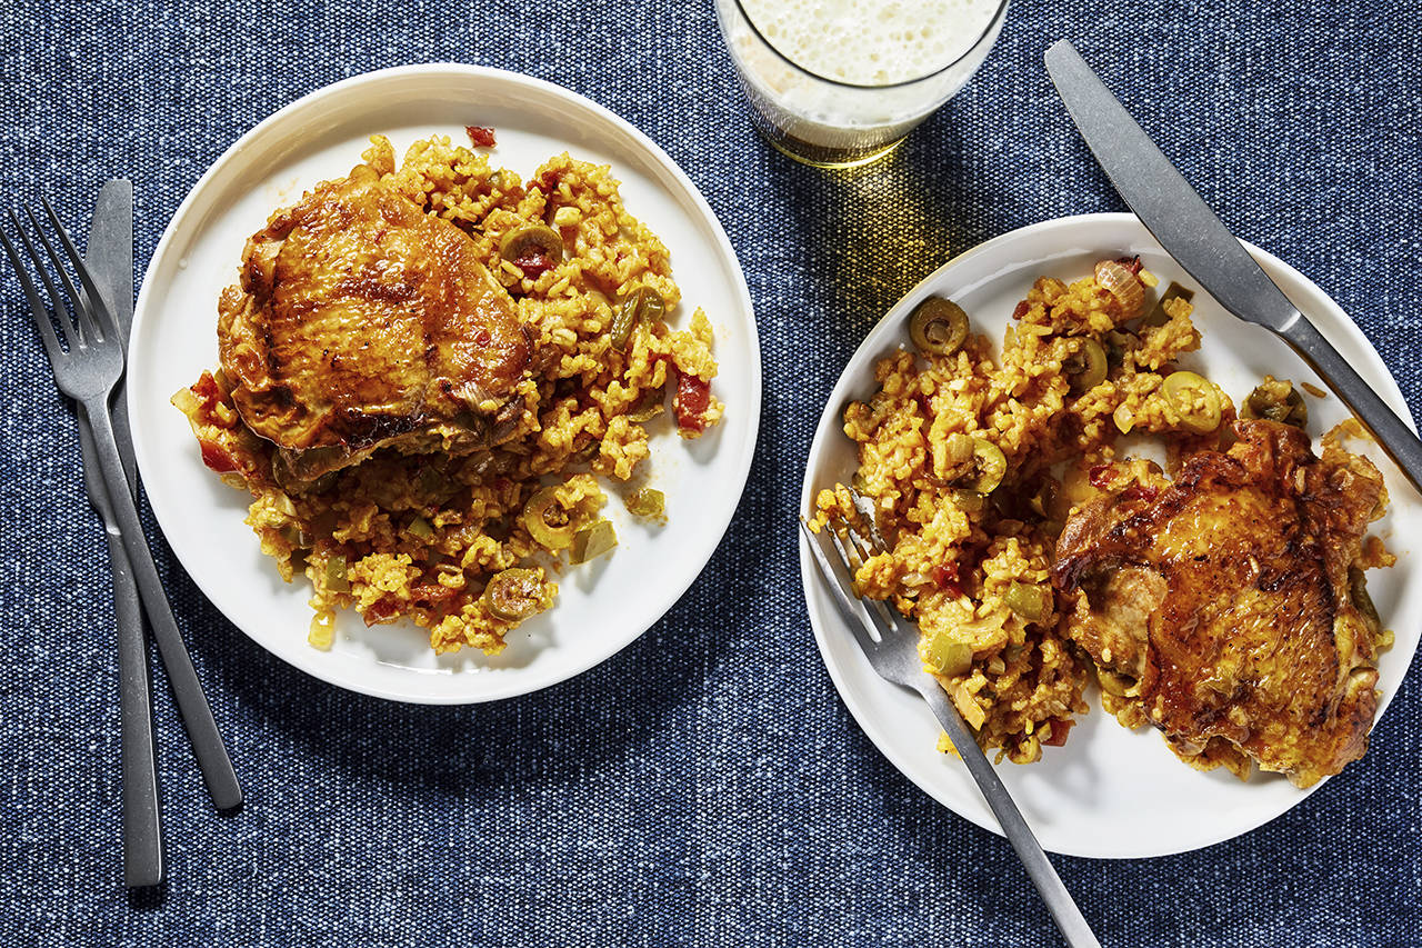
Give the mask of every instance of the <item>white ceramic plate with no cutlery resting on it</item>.
[[[360, 162], [368, 137], [397, 155], [465, 125], [491, 125], [491, 164], [525, 179], [546, 158], [610, 164], [627, 209], [671, 249], [687, 325], [701, 306], [715, 327], [724, 421], [697, 441], [653, 438], [651, 484], [668, 522], [648, 527], [610, 497], [620, 545], [563, 572], [557, 606], [520, 626], [495, 658], [435, 656], [414, 623], [367, 629], [350, 612], [336, 645], [307, 645], [310, 584], [283, 584], [242, 521], [247, 497], [198, 454], [169, 397], [218, 360], [218, 293], [236, 282], [243, 242], [267, 215]], [[319, 90], [243, 135], [183, 201], [154, 253], [134, 317], [128, 404], [144, 484], [173, 552], [212, 602], [253, 641], [316, 678], [381, 697], [458, 703], [532, 692], [616, 653], [691, 585], [721, 541], [751, 468], [761, 413], [761, 356], [751, 296], [721, 225], [695, 185], [646, 135], [600, 105], [501, 70], [456, 64], [384, 70]]]

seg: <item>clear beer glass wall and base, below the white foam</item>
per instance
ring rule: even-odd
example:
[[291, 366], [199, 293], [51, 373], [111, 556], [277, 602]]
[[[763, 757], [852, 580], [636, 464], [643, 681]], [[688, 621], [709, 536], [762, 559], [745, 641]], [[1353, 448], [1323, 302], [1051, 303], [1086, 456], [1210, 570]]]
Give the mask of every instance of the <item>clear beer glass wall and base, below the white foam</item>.
[[856, 85], [820, 75], [776, 48], [741, 0], [717, 0], [717, 20], [757, 130], [778, 151], [819, 168], [869, 164], [937, 111], [987, 58], [1003, 30], [1000, 0], [977, 38], [956, 60], [926, 75]]

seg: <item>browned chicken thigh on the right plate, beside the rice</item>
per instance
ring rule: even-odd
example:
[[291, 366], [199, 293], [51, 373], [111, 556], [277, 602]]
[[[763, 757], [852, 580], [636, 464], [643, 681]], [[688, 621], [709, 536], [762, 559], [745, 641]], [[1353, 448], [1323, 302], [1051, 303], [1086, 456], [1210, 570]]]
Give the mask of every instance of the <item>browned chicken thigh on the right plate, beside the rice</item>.
[[[1367, 460], [1298, 428], [1239, 421], [1153, 498], [1085, 504], [1054, 567], [1068, 633], [1209, 769], [1253, 759], [1307, 787], [1362, 756], [1378, 629], [1349, 567], [1386, 493]], [[1237, 767], [1236, 767], [1237, 770]]]

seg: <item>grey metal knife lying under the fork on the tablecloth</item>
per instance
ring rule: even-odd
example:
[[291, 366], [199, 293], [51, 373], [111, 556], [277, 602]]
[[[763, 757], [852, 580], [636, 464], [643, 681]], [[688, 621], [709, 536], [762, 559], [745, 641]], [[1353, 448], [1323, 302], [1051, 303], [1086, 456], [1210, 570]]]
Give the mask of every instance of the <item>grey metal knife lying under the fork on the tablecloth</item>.
[[[118, 178], [104, 184], [94, 205], [85, 242], [85, 266], [95, 289], [118, 313], [134, 299], [134, 186]], [[127, 330], [125, 330], [127, 335]], [[162, 818], [158, 804], [158, 771], [154, 752], [152, 686], [144, 612], [132, 565], [124, 551], [114, 505], [98, 473], [98, 455], [90, 420], [80, 413], [80, 448], [84, 454], [84, 488], [104, 521], [109, 572], [114, 576], [114, 619], [118, 632], [119, 756], [122, 773], [124, 884], [128, 888], [158, 885], [164, 878]], [[127, 426], [125, 426], [127, 431]], [[134, 480], [128, 481], [134, 490]]]

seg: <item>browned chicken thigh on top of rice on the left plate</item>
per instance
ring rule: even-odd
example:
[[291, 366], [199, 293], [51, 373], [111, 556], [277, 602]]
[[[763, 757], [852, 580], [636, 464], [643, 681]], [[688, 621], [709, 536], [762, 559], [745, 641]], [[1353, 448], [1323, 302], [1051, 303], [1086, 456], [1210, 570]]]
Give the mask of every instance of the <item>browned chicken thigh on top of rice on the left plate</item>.
[[279, 211], [218, 305], [242, 420], [310, 480], [378, 447], [483, 447], [522, 416], [529, 342], [474, 241], [368, 165]]

